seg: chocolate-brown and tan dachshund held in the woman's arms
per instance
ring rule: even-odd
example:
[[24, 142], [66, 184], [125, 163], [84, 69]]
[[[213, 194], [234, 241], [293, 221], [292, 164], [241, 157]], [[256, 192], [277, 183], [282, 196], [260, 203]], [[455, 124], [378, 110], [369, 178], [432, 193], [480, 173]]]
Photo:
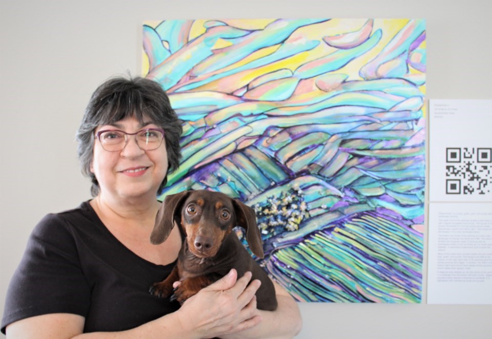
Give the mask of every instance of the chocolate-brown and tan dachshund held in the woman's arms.
[[259, 258], [264, 257], [253, 208], [227, 195], [208, 190], [170, 195], [157, 213], [150, 241], [155, 245], [165, 241], [174, 222], [181, 227], [186, 239], [173, 271], [164, 281], [151, 286], [151, 294], [167, 297], [173, 291], [173, 283], [179, 280], [181, 283], [171, 299], [182, 304], [235, 268], [238, 277], [251, 271], [252, 280], [261, 281], [256, 291], [258, 309], [273, 311], [277, 308], [272, 281], [232, 231], [235, 226], [243, 227], [253, 253]]

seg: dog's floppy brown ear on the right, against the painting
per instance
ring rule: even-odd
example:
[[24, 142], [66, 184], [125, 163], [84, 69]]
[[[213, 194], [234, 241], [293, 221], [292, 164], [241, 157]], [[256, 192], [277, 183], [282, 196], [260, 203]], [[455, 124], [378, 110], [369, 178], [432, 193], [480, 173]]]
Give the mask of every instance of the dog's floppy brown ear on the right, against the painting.
[[258, 258], [264, 258], [261, 234], [258, 226], [256, 226], [255, 210], [237, 199], [232, 199], [232, 202], [236, 213], [237, 225], [246, 230], [246, 241], [248, 241], [251, 251]]

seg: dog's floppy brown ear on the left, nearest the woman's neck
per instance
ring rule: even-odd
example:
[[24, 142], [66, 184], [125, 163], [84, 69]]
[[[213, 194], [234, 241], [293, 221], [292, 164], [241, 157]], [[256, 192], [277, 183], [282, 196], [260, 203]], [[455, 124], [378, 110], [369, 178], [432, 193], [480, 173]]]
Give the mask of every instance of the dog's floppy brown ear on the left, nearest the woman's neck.
[[174, 226], [174, 219], [178, 219], [177, 222], [181, 223], [179, 220], [181, 216], [179, 207], [189, 194], [190, 192], [185, 190], [169, 195], [164, 199], [155, 217], [154, 229], [150, 235], [150, 242], [152, 244], [158, 245], [168, 239]]

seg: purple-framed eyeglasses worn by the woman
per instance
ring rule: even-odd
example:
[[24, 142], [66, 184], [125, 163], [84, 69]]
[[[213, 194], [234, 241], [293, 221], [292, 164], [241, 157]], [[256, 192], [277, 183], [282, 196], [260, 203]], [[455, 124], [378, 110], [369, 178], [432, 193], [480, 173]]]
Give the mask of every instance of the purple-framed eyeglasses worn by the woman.
[[145, 129], [135, 133], [127, 133], [118, 130], [105, 130], [96, 133], [103, 149], [109, 152], [122, 151], [128, 143], [129, 135], [135, 136], [138, 147], [144, 151], [157, 149], [164, 139], [164, 130], [162, 129]]

